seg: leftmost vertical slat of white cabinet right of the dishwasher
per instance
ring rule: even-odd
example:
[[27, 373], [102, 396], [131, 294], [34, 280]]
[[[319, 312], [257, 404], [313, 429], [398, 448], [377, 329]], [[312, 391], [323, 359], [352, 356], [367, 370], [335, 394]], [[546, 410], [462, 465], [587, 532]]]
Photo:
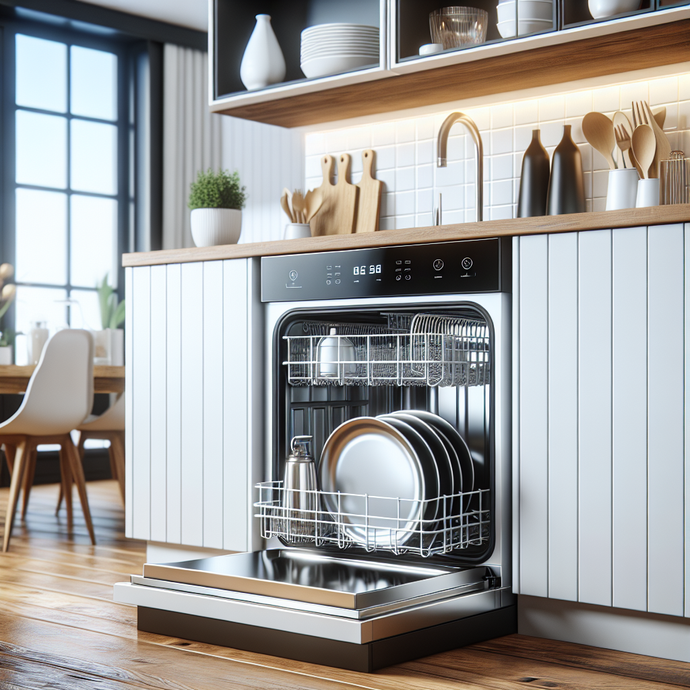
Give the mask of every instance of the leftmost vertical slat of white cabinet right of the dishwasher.
[[520, 240], [520, 593], [548, 596], [548, 240]]

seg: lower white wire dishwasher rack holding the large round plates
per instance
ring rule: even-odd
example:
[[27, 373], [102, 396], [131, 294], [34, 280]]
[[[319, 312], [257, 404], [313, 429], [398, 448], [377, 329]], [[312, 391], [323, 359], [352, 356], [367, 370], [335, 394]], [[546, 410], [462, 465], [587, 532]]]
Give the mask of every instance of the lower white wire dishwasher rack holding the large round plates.
[[[415, 554], [427, 558], [480, 546], [490, 536], [489, 489], [412, 500], [366, 494], [310, 491], [315, 510], [286, 507], [282, 481], [256, 485], [254, 504], [264, 539], [292, 544], [364, 548], [368, 552]], [[329, 506], [330, 509], [326, 509]], [[453, 510], [453, 506], [460, 506]]]

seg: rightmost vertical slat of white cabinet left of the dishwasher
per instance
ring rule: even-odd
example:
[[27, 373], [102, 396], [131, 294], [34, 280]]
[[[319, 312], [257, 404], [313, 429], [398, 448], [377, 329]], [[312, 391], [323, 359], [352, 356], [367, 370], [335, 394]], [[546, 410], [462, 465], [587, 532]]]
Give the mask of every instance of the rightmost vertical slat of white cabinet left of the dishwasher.
[[223, 547], [248, 548], [248, 262], [223, 262]]

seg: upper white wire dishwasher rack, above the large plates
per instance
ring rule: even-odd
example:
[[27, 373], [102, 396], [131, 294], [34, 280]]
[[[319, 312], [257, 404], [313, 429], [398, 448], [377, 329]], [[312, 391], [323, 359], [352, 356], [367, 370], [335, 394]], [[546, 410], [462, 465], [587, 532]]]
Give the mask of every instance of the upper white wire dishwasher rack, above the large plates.
[[388, 326], [305, 322], [286, 335], [293, 386], [483, 386], [490, 383], [486, 322], [389, 314]]

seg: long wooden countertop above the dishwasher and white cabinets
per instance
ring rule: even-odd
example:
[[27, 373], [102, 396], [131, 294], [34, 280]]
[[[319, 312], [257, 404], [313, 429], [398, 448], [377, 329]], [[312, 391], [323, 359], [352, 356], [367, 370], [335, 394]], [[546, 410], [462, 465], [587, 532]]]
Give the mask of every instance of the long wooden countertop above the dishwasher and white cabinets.
[[623, 211], [571, 213], [562, 216], [489, 220], [481, 223], [459, 223], [407, 230], [386, 230], [358, 235], [330, 235], [298, 240], [276, 240], [251, 244], [225, 244], [217, 247], [164, 249], [157, 252], [124, 254], [123, 266], [156, 266], [189, 263], [193, 261], [219, 261], [243, 259], [252, 256], [278, 254], [306, 254], [311, 252], [364, 249], [404, 244], [448, 242], [450, 240], [477, 239], [513, 235], [540, 235], [554, 232], [600, 230], [602, 228], [630, 228], [641, 225], [665, 225], [690, 222], [690, 204], [632, 208]]

